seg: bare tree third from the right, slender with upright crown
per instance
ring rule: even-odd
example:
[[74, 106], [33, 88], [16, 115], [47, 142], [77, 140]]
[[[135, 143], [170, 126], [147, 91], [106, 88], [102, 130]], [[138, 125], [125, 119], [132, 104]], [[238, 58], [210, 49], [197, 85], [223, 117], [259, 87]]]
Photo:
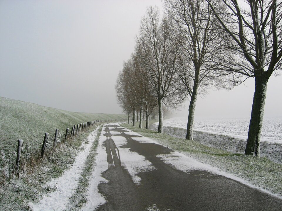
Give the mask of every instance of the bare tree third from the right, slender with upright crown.
[[149, 72], [149, 81], [158, 99], [159, 127], [162, 132], [162, 104], [175, 106], [184, 100], [182, 84], [174, 74], [176, 53], [173, 49], [172, 31], [169, 30], [167, 18], [162, 18], [157, 8], [147, 8], [142, 18], [137, 45], [142, 50], [142, 60]]

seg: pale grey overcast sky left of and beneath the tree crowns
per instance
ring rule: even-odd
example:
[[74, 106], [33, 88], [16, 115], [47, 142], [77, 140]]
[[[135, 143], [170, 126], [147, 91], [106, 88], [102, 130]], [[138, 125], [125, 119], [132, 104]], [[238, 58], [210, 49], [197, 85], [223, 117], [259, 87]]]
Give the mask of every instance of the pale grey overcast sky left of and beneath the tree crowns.
[[[69, 111], [121, 113], [115, 80], [146, 7], [160, 0], [0, 0], [0, 96]], [[282, 116], [282, 76], [265, 116]], [[198, 98], [196, 118], [249, 117], [254, 82]], [[178, 115], [188, 114], [188, 105]]]

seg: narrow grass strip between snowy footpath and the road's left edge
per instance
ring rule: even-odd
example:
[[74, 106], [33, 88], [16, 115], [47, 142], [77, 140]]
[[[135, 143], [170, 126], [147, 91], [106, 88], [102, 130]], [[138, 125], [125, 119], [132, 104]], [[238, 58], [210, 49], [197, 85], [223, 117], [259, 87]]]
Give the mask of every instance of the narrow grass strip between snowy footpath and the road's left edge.
[[75, 189], [75, 193], [70, 198], [70, 204], [68, 210], [80, 210], [84, 203], [87, 202], [87, 190], [89, 186], [90, 176], [95, 166], [95, 158], [97, 155], [97, 147], [99, 145], [99, 138], [103, 127], [100, 127], [95, 141], [90, 149], [90, 153], [85, 161], [81, 177], [78, 182], [78, 187]]

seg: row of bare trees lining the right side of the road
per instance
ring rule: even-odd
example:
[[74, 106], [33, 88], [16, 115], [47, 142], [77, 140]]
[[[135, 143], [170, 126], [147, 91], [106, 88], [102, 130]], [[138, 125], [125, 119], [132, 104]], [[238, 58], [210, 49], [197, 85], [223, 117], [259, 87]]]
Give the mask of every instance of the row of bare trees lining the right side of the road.
[[[259, 156], [266, 87], [281, 70], [282, 2], [163, 0], [164, 16], [147, 8], [135, 52], [117, 78], [118, 102], [130, 114], [190, 97], [186, 139], [193, 139], [197, 96], [209, 87], [232, 89], [248, 78], [255, 92], [245, 154]], [[146, 97], [144, 97], [146, 96]]]

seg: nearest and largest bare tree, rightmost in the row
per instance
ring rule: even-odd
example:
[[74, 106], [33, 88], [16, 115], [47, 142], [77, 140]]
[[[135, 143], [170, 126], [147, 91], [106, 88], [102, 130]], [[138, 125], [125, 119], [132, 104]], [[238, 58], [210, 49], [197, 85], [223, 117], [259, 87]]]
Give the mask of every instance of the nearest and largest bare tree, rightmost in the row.
[[[245, 154], [259, 156], [259, 144], [263, 121], [266, 87], [270, 76], [281, 70], [282, 57], [282, 2], [276, 0], [222, 0], [226, 12], [216, 8], [216, 3], [206, 0], [217, 20], [218, 27], [232, 38], [225, 42], [227, 48], [237, 52], [236, 58], [228, 58], [224, 66], [234, 76], [254, 77], [255, 91]], [[237, 77], [240, 77], [237, 76]]]

